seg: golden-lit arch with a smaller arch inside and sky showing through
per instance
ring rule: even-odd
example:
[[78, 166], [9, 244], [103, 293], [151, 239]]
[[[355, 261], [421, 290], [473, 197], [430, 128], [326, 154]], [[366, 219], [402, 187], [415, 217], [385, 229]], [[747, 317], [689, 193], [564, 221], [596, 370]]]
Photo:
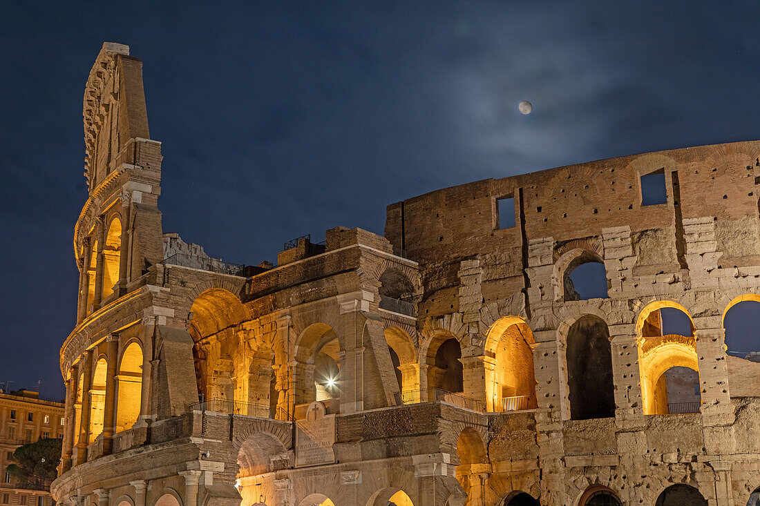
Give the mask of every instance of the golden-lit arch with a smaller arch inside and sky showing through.
[[639, 315], [638, 332], [644, 414], [698, 413], [699, 367], [689, 314], [676, 302], [654, 302]]

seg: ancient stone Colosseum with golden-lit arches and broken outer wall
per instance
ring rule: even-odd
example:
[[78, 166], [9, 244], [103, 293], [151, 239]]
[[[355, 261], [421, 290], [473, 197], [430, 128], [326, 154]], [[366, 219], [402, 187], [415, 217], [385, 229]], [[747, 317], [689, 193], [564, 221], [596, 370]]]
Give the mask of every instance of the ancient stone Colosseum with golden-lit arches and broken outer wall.
[[432, 191], [236, 265], [163, 233], [128, 46], [84, 137], [59, 503], [760, 504], [760, 363], [724, 330], [760, 301], [760, 141]]

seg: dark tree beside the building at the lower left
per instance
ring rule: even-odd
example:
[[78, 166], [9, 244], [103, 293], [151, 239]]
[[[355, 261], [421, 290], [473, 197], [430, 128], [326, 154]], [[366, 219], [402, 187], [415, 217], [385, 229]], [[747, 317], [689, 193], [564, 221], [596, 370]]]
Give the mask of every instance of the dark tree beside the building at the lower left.
[[21, 486], [46, 489], [57, 476], [55, 468], [61, 459], [62, 439], [40, 439], [24, 444], [13, 452], [14, 463], [6, 469]]

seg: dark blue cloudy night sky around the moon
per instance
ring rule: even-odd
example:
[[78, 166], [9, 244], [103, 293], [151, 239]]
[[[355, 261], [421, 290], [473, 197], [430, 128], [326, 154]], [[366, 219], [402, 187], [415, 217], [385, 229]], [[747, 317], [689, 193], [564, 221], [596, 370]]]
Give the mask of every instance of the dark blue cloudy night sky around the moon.
[[[760, 138], [758, 2], [106, 5], [0, 17], [0, 381], [46, 398], [75, 324], [103, 41], [144, 62], [164, 232], [236, 263], [337, 225], [382, 233], [385, 205], [437, 188]], [[760, 348], [758, 327], [736, 349]]]

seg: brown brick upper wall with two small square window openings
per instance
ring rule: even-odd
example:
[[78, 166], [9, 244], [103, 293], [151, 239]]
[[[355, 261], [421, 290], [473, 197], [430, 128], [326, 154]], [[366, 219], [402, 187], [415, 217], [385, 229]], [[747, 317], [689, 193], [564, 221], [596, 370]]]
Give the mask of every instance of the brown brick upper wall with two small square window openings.
[[[758, 156], [760, 142], [748, 141], [472, 182], [391, 204], [385, 236], [423, 265], [481, 255], [502, 264], [498, 276], [510, 277], [519, 274], [531, 239], [553, 237], [557, 248], [589, 239], [593, 248], [602, 229], [629, 226], [639, 270], [677, 270], [685, 267], [683, 220], [714, 217], [720, 266], [760, 264]], [[641, 176], [660, 169], [667, 203], [642, 206]], [[517, 224], [499, 229], [496, 200], [504, 197], [515, 198]]]

